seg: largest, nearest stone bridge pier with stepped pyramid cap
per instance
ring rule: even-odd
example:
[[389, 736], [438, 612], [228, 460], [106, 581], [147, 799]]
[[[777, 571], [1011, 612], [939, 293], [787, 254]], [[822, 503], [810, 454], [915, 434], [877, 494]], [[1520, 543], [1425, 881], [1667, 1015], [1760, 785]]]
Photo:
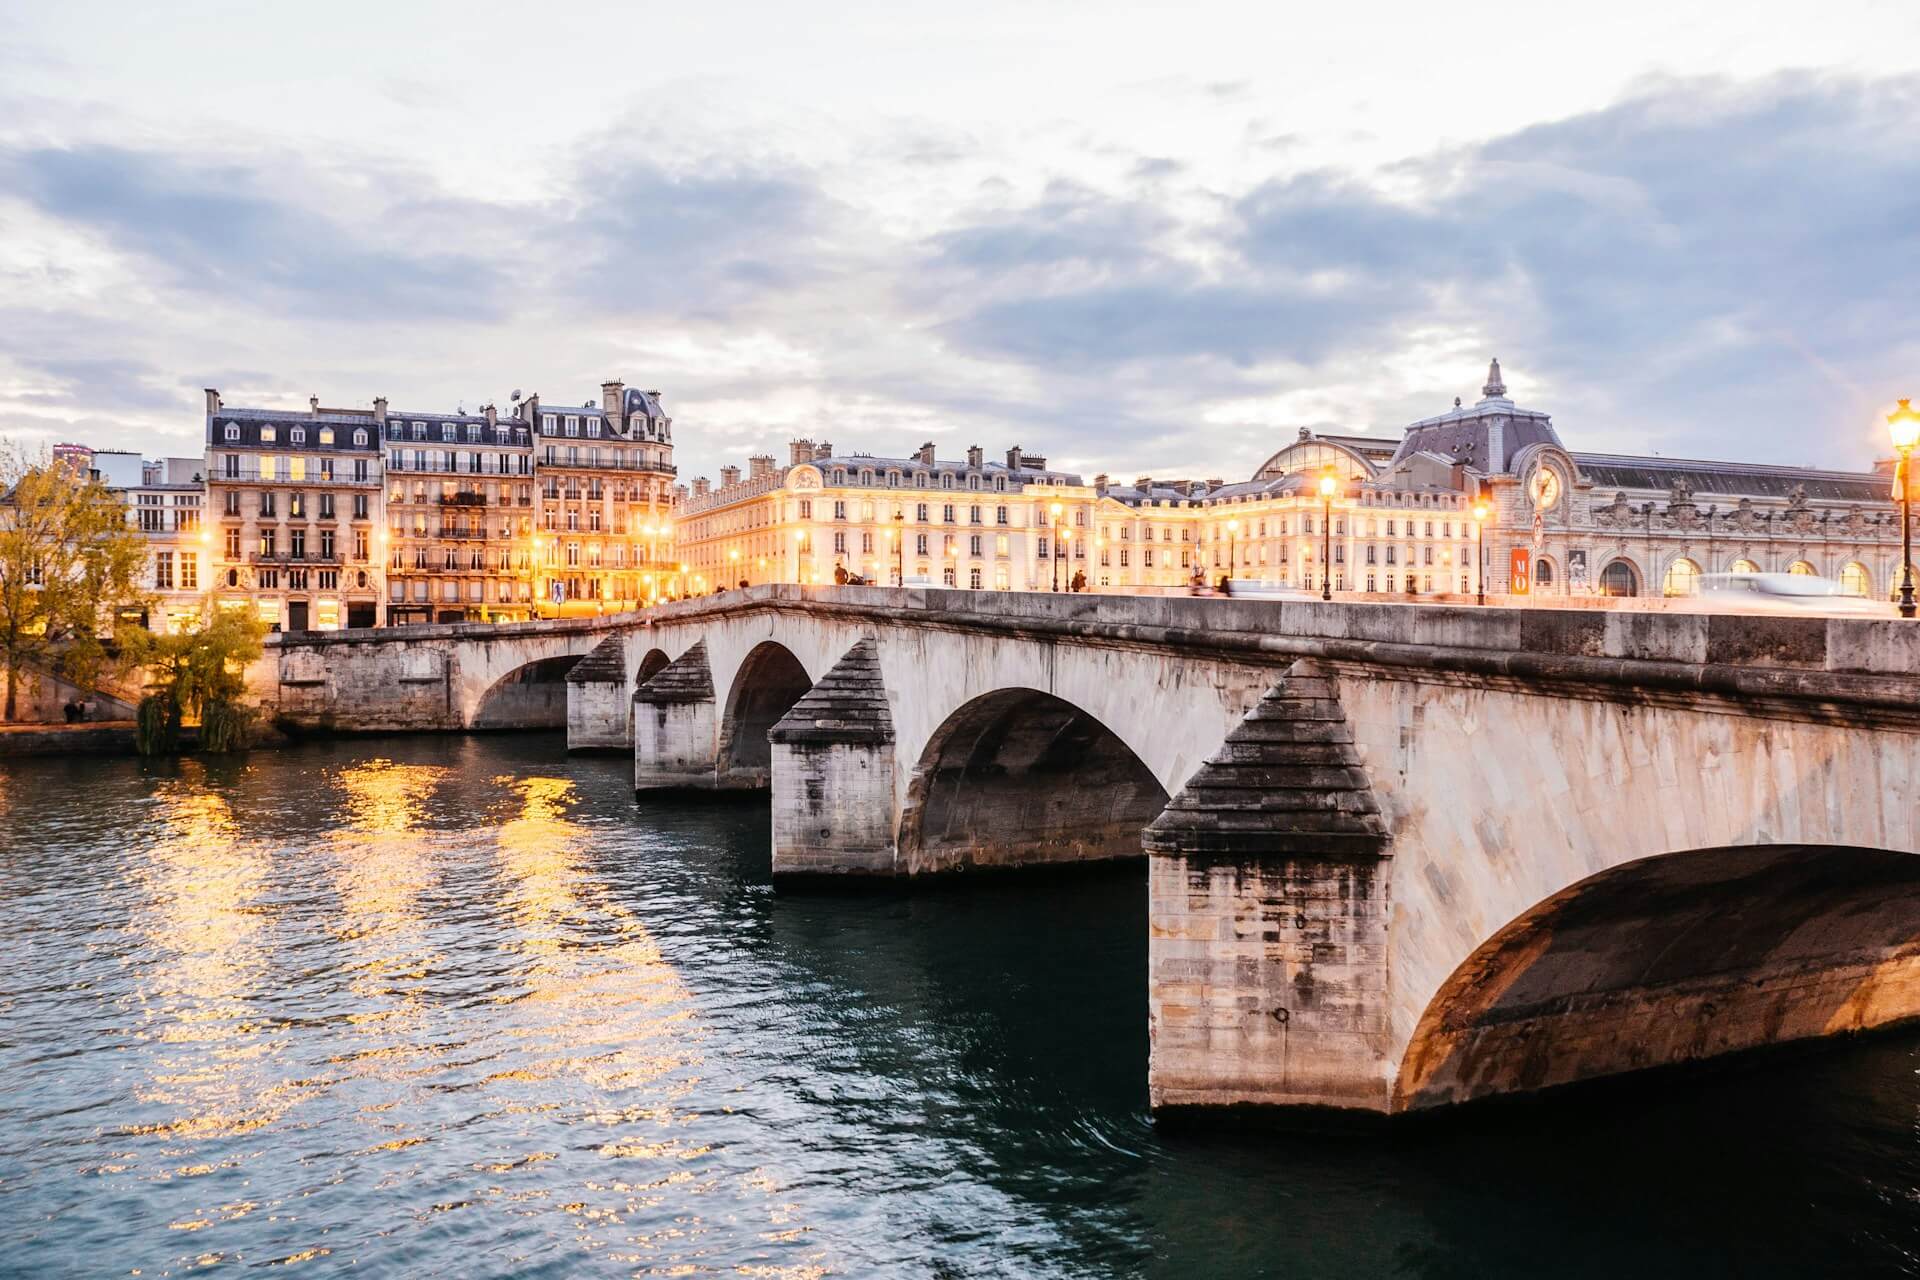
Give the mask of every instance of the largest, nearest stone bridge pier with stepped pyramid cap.
[[1146, 829], [1154, 1109], [1386, 1111], [1386, 823], [1296, 662]]

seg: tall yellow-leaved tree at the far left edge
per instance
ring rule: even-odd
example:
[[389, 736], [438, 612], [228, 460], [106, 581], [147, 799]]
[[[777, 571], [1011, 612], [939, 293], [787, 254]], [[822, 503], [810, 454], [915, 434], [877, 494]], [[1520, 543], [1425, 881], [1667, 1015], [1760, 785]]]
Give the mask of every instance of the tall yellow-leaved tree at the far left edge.
[[0, 443], [0, 662], [6, 720], [17, 714], [19, 674], [52, 664], [90, 687], [106, 662], [104, 635], [142, 603], [146, 539], [104, 484], [44, 453]]

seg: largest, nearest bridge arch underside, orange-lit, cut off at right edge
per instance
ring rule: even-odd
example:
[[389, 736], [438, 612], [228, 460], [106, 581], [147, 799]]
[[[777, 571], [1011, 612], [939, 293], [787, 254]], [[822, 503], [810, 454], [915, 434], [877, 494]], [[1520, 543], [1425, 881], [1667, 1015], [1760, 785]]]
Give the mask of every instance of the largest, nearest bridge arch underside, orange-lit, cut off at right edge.
[[1590, 875], [1434, 992], [1392, 1109], [1920, 1019], [1920, 856], [1743, 844]]

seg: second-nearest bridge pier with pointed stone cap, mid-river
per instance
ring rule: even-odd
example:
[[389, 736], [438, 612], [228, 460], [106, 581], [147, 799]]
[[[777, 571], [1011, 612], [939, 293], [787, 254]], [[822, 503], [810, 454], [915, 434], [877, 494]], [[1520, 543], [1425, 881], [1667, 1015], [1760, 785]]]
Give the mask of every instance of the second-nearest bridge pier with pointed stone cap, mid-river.
[[774, 877], [893, 875], [893, 716], [864, 639], [768, 733]]

